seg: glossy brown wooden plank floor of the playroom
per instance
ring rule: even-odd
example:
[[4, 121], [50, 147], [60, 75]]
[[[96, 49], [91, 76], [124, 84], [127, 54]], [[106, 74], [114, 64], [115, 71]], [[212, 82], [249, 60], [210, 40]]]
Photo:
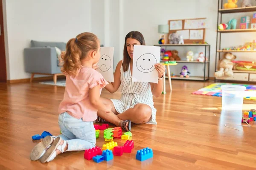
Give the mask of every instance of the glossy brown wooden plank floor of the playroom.
[[[168, 83], [168, 82], [166, 82]], [[133, 125], [134, 150], [114, 156], [113, 161], [96, 164], [83, 157], [83, 151], [67, 152], [42, 164], [30, 161], [29, 153], [38, 143], [31, 136], [44, 130], [59, 134], [58, 105], [63, 87], [32, 84], [0, 84], [0, 170], [255, 170], [256, 125], [225, 127], [240, 122], [233, 113], [221, 113], [221, 98], [192, 95], [193, 91], [213, 82], [172, 81], [172, 94], [154, 98], [157, 125]], [[166, 85], [166, 87], [168, 87]], [[120, 93], [102, 91], [102, 96], [119, 98]], [[256, 108], [256, 101], [244, 100], [244, 109]], [[124, 140], [114, 139], [119, 145]], [[102, 131], [96, 145], [104, 144]], [[153, 159], [137, 161], [137, 150], [151, 147]]]

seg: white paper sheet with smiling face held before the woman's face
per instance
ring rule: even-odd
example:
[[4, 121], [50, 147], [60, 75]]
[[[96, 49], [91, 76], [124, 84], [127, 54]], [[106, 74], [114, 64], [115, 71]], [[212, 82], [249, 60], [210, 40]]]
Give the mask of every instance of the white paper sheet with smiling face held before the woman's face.
[[160, 61], [160, 47], [134, 45], [133, 82], [158, 83], [158, 72], [155, 64]]

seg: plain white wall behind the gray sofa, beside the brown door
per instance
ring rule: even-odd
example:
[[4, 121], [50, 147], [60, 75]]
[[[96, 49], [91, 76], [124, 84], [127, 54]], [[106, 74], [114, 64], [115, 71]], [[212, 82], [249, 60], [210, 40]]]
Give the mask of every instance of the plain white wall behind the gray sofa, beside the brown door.
[[23, 49], [30, 40], [67, 42], [91, 30], [90, 0], [6, 0], [9, 79], [29, 78]]

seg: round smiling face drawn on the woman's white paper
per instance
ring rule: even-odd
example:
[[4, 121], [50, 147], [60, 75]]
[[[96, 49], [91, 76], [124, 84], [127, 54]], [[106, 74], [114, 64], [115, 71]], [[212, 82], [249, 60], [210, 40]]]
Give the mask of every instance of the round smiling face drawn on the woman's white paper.
[[154, 71], [154, 65], [157, 64], [157, 59], [151, 53], [141, 55], [136, 62], [136, 67], [143, 73]]

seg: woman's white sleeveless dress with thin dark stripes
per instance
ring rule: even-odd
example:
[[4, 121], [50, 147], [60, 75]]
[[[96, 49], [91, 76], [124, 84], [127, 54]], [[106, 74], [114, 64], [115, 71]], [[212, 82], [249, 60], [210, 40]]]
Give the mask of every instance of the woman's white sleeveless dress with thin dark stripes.
[[138, 103], [149, 105], [152, 109], [152, 119], [148, 123], [157, 124], [156, 113], [154, 108], [153, 94], [149, 82], [132, 82], [130, 64], [128, 71], [123, 71], [121, 66], [121, 99], [111, 99], [118, 113], [123, 113], [128, 108], [133, 108]]

